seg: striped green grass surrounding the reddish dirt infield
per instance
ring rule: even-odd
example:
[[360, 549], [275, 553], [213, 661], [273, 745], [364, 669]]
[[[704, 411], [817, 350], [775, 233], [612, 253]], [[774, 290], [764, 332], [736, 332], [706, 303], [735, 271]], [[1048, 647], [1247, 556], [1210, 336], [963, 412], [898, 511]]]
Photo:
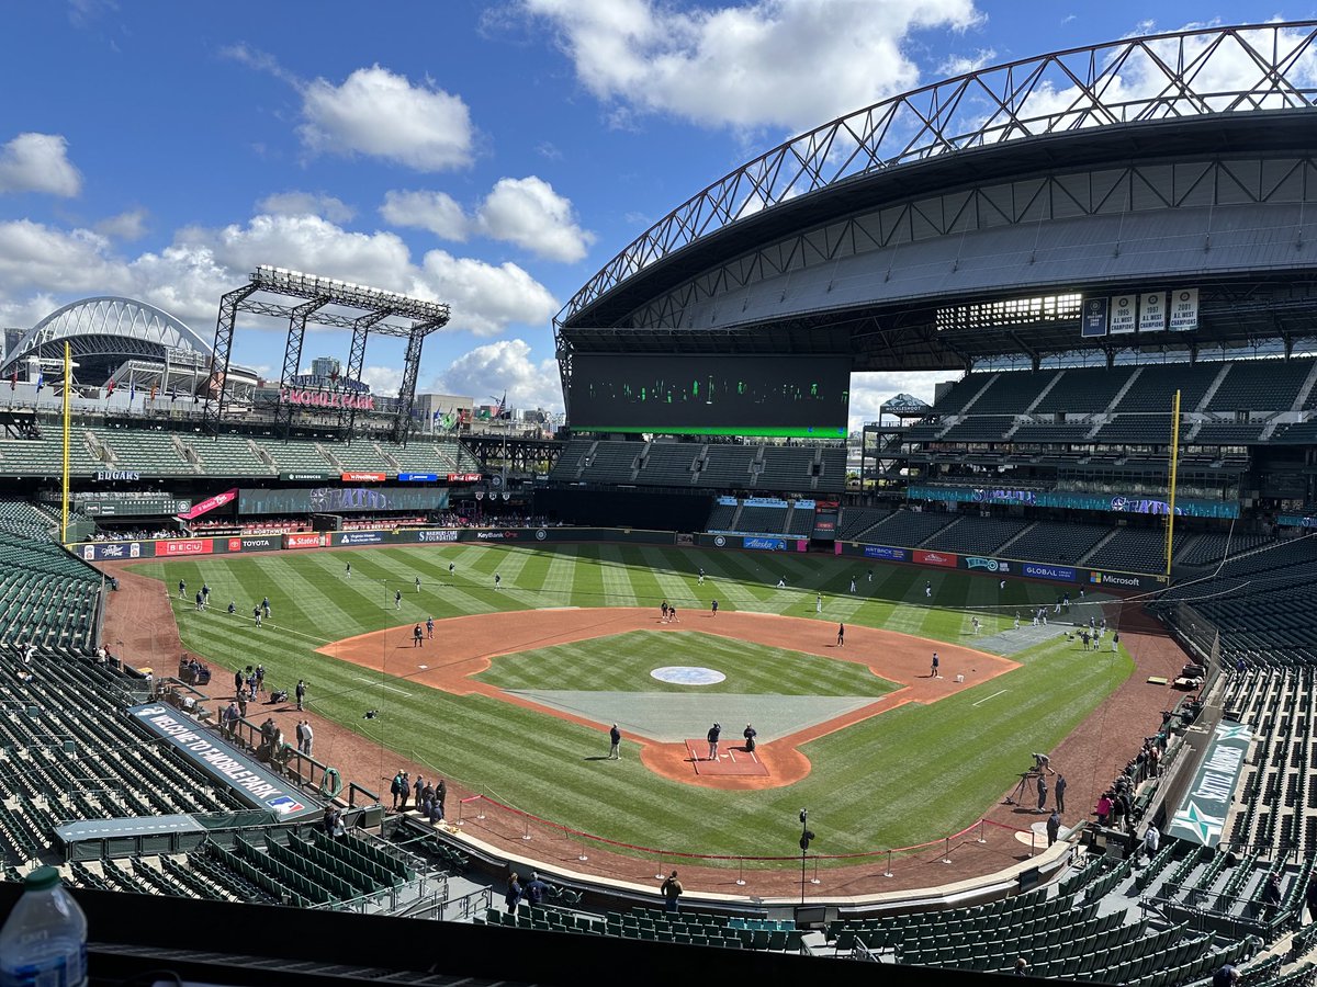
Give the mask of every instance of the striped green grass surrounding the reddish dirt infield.
[[[353, 575], [346, 580], [349, 559]], [[694, 578], [701, 566], [703, 587]], [[819, 592], [824, 601], [818, 619], [828, 624], [886, 626], [968, 644], [973, 616], [990, 634], [1010, 625], [1015, 608], [1050, 603], [1059, 590], [1023, 580], [998, 590], [996, 578], [896, 565], [873, 565], [871, 582], [867, 563], [830, 557], [616, 545], [294, 551], [151, 562], [137, 571], [162, 579], [161, 591], [175, 597], [190, 649], [229, 666], [263, 663], [266, 682], [277, 687], [306, 678], [317, 713], [378, 742], [379, 778], [358, 779], [367, 787], [392, 775], [396, 765], [386, 751], [398, 750], [547, 819], [672, 850], [790, 854], [801, 807], [810, 808], [811, 828], [819, 833], [815, 849], [826, 854], [955, 832], [1010, 787], [1031, 751], [1052, 749], [1133, 670], [1123, 649], [1115, 655], [1085, 653], [1058, 636], [1013, 655], [1022, 667], [984, 686], [932, 707], [905, 705], [809, 744], [803, 751], [813, 771], [794, 786], [726, 792], [656, 776], [631, 744], [620, 762], [589, 761], [607, 750], [601, 730], [497, 699], [457, 697], [381, 676], [313, 649], [427, 616], [535, 607], [657, 609], [668, 599], [682, 609], [707, 609], [718, 599], [723, 609], [815, 617]], [[502, 575], [498, 591], [495, 572]], [[420, 594], [414, 590], [416, 576], [423, 580]], [[790, 588], [776, 588], [782, 576]], [[848, 592], [852, 576], [855, 595]], [[190, 594], [204, 579], [212, 611], [195, 613], [179, 601], [179, 579], [187, 580]], [[926, 580], [931, 600], [925, 599]], [[392, 603], [398, 588], [402, 612]], [[250, 613], [263, 595], [273, 617], [257, 629]], [[234, 617], [223, 612], [229, 599], [238, 608]], [[568, 650], [590, 653], [583, 645]], [[564, 687], [561, 680], [557, 687]], [[365, 709], [379, 709], [381, 716], [362, 720]], [[320, 744], [317, 754], [333, 759]]]

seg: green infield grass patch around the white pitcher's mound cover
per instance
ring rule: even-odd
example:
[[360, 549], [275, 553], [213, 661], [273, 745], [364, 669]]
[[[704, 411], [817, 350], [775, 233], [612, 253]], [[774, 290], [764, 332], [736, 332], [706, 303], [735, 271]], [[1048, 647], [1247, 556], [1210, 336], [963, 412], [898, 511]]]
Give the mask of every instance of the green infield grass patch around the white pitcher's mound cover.
[[[727, 678], [710, 686], [661, 682], [666, 665], [705, 665]], [[475, 678], [506, 690], [714, 692], [761, 696], [878, 696], [897, 688], [863, 665], [694, 630], [633, 630], [536, 651], [504, 654]]]

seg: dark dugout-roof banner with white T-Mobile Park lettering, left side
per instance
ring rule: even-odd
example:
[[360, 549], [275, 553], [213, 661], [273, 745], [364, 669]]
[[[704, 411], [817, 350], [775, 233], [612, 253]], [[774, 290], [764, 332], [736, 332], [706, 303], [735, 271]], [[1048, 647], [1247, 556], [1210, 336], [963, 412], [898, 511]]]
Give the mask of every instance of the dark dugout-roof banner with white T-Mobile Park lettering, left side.
[[129, 707], [128, 715], [133, 722], [171, 744], [179, 754], [232, 791], [244, 804], [267, 809], [283, 820], [320, 811], [319, 805], [282, 778], [176, 709], [148, 703]]

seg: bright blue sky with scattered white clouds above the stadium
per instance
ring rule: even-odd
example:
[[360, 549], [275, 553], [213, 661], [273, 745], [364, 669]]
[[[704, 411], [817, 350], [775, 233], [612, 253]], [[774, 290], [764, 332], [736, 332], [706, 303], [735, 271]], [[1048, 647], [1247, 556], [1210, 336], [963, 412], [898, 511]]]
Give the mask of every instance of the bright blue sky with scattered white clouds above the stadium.
[[[1154, 17], [1156, 20], [1150, 20]], [[977, 64], [1312, 8], [1033, 0], [11, 0], [0, 325], [126, 295], [213, 334], [258, 263], [448, 301], [421, 390], [561, 409], [552, 316], [784, 138]], [[346, 358], [317, 332], [306, 359]], [[283, 328], [234, 359], [278, 374]], [[366, 378], [396, 388], [373, 341]], [[852, 420], [940, 375], [861, 375]]]

